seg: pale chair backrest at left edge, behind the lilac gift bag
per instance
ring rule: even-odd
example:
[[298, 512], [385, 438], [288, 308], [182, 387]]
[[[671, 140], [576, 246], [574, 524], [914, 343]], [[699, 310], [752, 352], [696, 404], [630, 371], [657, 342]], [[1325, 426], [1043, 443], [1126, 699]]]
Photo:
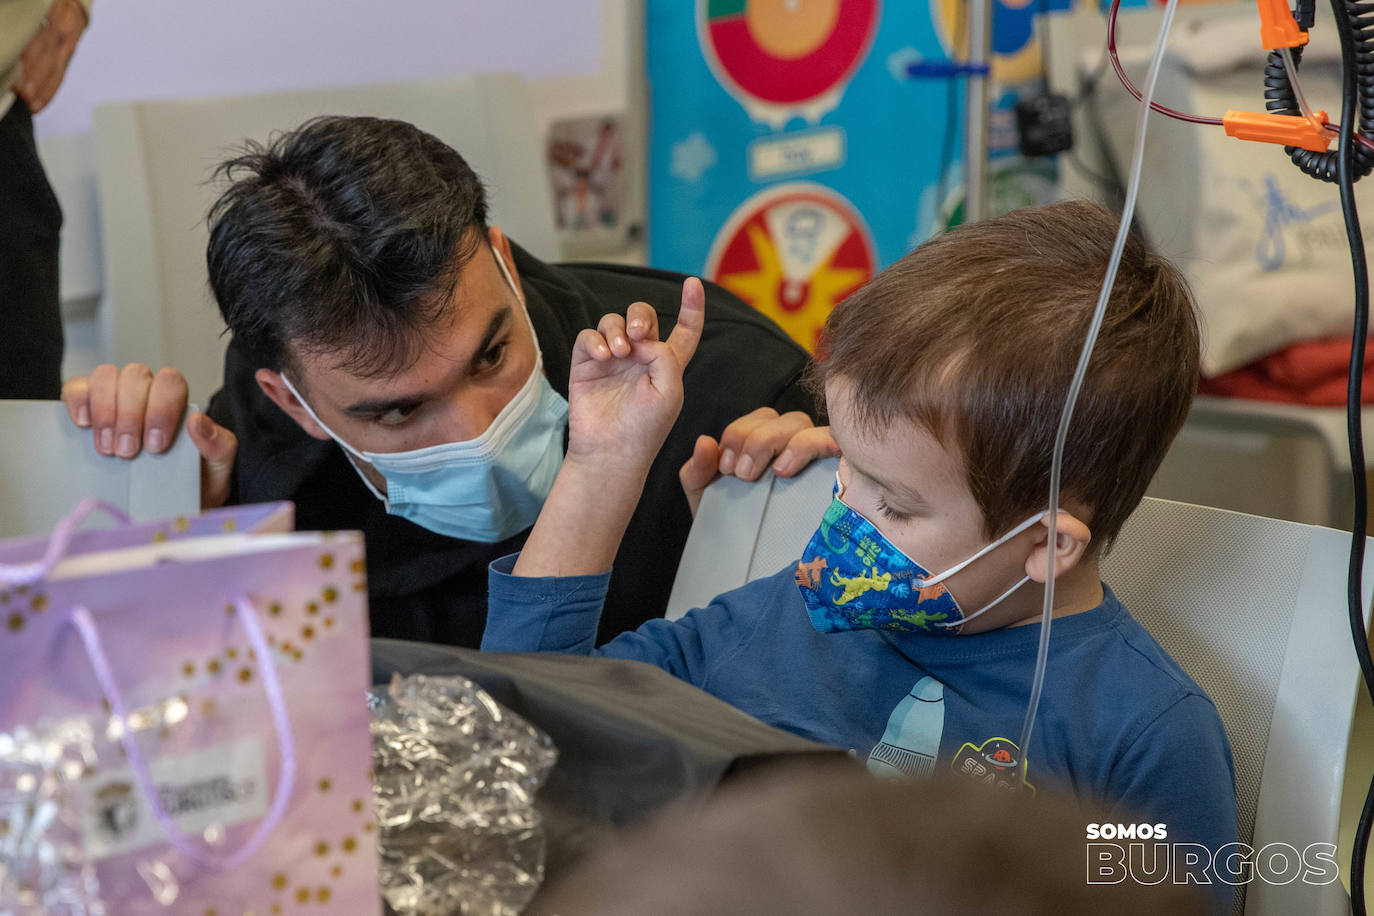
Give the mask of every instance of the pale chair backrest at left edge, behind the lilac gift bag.
[[139, 520], [201, 511], [201, 457], [179, 435], [162, 455], [98, 455], [58, 401], [0, 401], [0, 538], [47, 534], [82, 499]]

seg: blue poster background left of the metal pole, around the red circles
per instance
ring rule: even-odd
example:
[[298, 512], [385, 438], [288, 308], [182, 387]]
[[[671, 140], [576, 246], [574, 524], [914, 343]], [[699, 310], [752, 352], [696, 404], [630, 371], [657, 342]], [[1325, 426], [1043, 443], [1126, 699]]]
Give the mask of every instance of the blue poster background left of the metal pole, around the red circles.
[[[882, 264], [901, 257], [929, 224], [929, 217], [921, 218], [919, 196], [938, 173], [941, 132], [951, 114], [944, 81], [916, 82], [888, 66], [889, 59], [904, 63], [915, 55], [945, 56], [926, 4], [883, 3], [872, 47], [838, 107], [816, 125], [791, 117], [783, 130], [750, 118], [710, 71], [697, 34], [702, 15], [699, 3], [649, 0], [650, 264], [703, 269], [717, 229], [735, 207], [754, 192], [796, 177], [823, 184], [853, 203], [868, 224]], [[822, 125], [837, 125], [845, 133], [838, 168], [750, 179], [750, 141]], [[954, 146], [958, 158], [958, 137]]]

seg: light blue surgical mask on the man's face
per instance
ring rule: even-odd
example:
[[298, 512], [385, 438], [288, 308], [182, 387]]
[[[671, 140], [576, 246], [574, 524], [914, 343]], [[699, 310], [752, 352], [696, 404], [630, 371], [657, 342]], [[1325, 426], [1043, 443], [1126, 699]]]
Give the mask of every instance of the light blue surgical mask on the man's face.
[[[525, 385], [477, 438], [409, 452], [361, 452], [335, 435], [282, 376], [311, 419], [352, 456], [353, 470], [387, 512], [436, 534], [486, 544], [504, 541], [539, 518], [563, 463], [567, 427], [567, 401], [544, 376], [544, 357], [525, 298], [499, 254], [496, 264], [521, 301], [536, 358]], [[386, 479], [386, 493], [372, 485], [357, 461], [371, 464]]]

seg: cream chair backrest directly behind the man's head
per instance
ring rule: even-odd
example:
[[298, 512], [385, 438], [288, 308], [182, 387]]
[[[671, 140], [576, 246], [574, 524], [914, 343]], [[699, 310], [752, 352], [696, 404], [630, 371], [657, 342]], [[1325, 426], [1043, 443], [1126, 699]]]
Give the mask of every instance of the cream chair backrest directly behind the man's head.
[[491, 221], [556, 257], [552, 191], [523, 80], [489, 74], [217, 99], [124, 102], [95, 111], [110, 358], [173, 365], [191, 397], [220, 386], [224, 321], [209, 290], [207, 179], [245, 139], [322, 114], [409, 121], [458, 150], [492, 192]]

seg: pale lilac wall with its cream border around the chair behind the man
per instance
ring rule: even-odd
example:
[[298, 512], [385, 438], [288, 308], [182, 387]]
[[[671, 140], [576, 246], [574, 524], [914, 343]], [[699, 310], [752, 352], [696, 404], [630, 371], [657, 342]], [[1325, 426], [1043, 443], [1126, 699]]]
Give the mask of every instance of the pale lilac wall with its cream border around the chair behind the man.
[[[65, 374], [107, 358], [91, 113], [103, 102], [243, 95], [517, 71], [540, 133], [559, 117], [624, 113], [643, 130], [639, 0], [95, 0], [52, 104], [34, 121], [62, 201]], [[642, 148], [627, 150], [631, 218]]]

